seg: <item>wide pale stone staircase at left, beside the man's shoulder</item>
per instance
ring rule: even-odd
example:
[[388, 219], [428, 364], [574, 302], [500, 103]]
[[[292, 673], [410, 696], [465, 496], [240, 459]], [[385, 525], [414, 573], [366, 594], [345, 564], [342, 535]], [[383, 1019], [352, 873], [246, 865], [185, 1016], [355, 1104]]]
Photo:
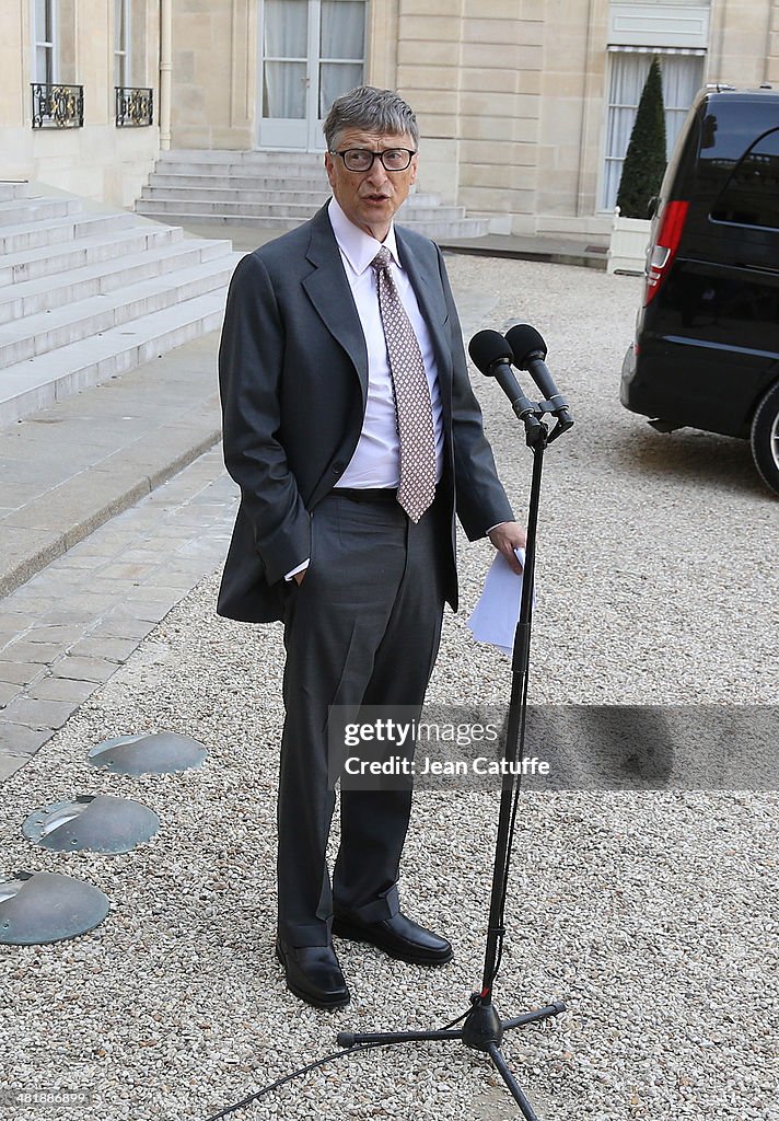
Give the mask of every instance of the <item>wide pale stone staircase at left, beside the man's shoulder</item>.
[[219, 327], [240, 256], [0, 182], [0, 425]]

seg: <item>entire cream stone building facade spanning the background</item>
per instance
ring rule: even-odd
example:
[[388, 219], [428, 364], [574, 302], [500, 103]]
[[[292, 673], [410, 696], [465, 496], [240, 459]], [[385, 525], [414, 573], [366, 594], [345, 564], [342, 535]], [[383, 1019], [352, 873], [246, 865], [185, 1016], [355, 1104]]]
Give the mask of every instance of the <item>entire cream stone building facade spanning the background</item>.
[[[35, 12], [47, 3], [57, 15], [59, 81], [84, 85], [83, 129], [31, 128]], [[779, 82], [779, 0], [9, 0], [9, 8], [0, 176], [123, 205], [160, 147], [321, 150], [330, 101], [365, 81], [398, 89], [417, 110], [419, 189], [489, 214], [504, 232], [595, 237], [609, 228], [653, 54], [669, 143], [702, 84]], [[122, 9], [132, 41], [127, 84], [155, 95], [146, 129], [113, 119]]]

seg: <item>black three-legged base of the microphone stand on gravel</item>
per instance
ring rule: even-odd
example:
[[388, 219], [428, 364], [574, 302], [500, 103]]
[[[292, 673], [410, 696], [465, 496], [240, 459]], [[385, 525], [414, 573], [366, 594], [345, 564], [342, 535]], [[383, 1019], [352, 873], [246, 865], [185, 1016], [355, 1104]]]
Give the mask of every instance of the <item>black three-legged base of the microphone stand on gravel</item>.
[[466, 1047], [484, 1051], [490, 1056], [511, 1096], [519, 1105], [522, 1117], [527, 1121], [538, 1121], [532, 1105], [500, 1051], [500, 1043], [503, 1032], [509, 1028], [519, 1028], [525, 1023], [532, 1023], [535, 1020], [545, 1020], [550, 1016], [559, 1016], [564, 1011], [565, 1004], [558, 1000], [554, 1004], [547, 1004], [532, 1012], [523, 1012], [510, 1020], [501, 1020], [492, 1001], [486, 1001], [474, 1004], [462, 1028], [440, 1028], [437, 1031], [340, 1031], [336, 1038], [341, 1047], [355, 1047], [359, 1044], [409, 1044], [427, 1041], [428, 1039], [460, 1039]]

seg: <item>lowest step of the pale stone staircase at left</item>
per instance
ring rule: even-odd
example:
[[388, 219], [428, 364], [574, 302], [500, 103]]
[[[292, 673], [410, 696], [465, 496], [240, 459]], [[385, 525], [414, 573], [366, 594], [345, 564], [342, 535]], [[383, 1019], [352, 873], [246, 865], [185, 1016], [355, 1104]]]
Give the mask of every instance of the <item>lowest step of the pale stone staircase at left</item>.
[[[233, 263], [240, 257], [233, 254]], [[10, 367], [0, 377], [0, 425], [13, 424], [29, 413], [216, 331], [224, 315], [225, 296], [226, 288], [217, 288]]]

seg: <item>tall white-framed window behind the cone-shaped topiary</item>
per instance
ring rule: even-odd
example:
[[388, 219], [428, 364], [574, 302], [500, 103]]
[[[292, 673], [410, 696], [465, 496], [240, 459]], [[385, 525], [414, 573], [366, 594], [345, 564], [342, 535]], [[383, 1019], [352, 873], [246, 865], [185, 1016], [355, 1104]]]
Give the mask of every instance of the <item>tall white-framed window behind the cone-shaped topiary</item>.
[[642, 47], [640, 50], [610, 48], [609, 111], [600, 204], [602, 210], [613, 210], [616, 202], [622, 164], [652, 56], [659, 58], [662, 72], [668, 156], [674, 150], [695, 94], [703, 85], [703, 50], [675, 50], [668, 47]]

